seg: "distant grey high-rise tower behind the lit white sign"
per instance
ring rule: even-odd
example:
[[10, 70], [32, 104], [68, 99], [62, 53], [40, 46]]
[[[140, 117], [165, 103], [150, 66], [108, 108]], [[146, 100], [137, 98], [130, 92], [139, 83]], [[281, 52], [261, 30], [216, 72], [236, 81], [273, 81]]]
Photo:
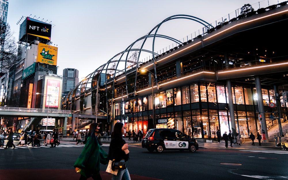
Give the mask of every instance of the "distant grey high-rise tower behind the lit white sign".
[[75, 88], [79, 83], [79, 71], [73, 68], [63, 69], [63, 84], [62, 84], [62, 96], [66, 95], [69, 91]]

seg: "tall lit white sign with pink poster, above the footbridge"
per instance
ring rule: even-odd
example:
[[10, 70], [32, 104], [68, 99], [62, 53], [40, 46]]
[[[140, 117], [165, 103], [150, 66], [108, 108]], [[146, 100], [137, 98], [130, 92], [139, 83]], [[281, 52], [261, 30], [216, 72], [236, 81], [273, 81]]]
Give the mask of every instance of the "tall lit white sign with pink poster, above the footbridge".
[[47, 79], [45, 107], [58, 107], [60, 81]]

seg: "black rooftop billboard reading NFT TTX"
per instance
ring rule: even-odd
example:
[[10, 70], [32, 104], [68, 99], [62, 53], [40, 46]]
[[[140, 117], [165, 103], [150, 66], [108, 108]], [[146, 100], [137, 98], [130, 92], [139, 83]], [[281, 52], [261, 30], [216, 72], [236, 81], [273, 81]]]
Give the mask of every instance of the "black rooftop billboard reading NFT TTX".
[[27, 17], [20, 25], [19, 40], [26, 34], [51, 40], [52, 25]]

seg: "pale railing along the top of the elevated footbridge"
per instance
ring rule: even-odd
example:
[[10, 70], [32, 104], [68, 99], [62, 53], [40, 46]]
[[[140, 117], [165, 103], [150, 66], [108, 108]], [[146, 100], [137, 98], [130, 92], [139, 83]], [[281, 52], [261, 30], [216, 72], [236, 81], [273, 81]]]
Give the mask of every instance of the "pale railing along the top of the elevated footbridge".
[[36, 108], [24, 108], [24, 107], [0, 107], [0, 111], [14, 111], [14, 112], [32, 112], [32, 113], [61, 113], [71, 114], [69, 110], [58, 109], [36, 109]]

